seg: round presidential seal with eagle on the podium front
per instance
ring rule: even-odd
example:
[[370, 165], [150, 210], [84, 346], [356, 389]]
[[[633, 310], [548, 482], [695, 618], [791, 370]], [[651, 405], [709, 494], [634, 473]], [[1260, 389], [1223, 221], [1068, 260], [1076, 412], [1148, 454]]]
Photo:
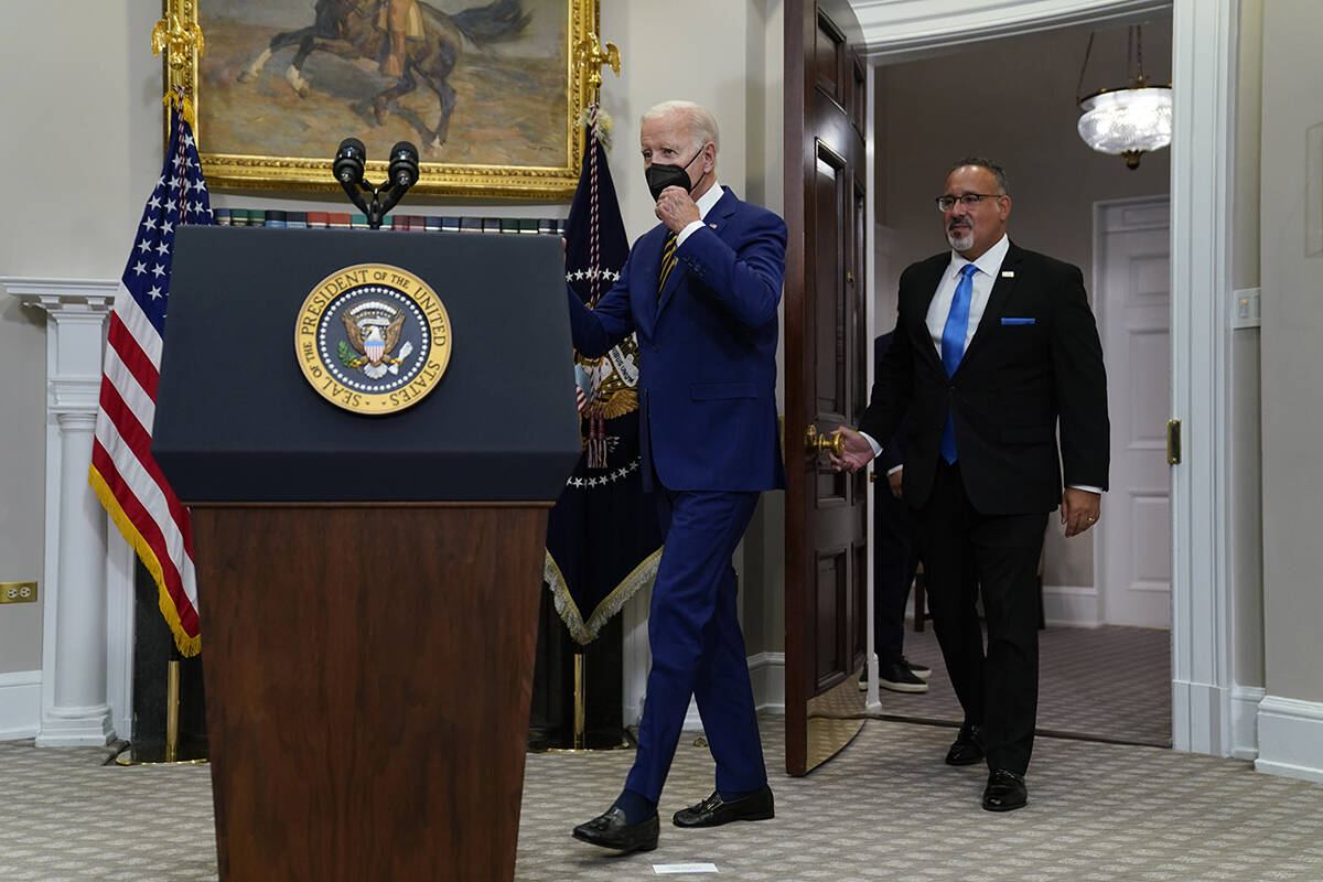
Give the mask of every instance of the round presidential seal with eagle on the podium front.
[[400, 267], [359, 263], [321, 279], [299, 308], [303, 377], [337, 407], [393, 414], [446, 373], [450, 316], [431, 287]]

